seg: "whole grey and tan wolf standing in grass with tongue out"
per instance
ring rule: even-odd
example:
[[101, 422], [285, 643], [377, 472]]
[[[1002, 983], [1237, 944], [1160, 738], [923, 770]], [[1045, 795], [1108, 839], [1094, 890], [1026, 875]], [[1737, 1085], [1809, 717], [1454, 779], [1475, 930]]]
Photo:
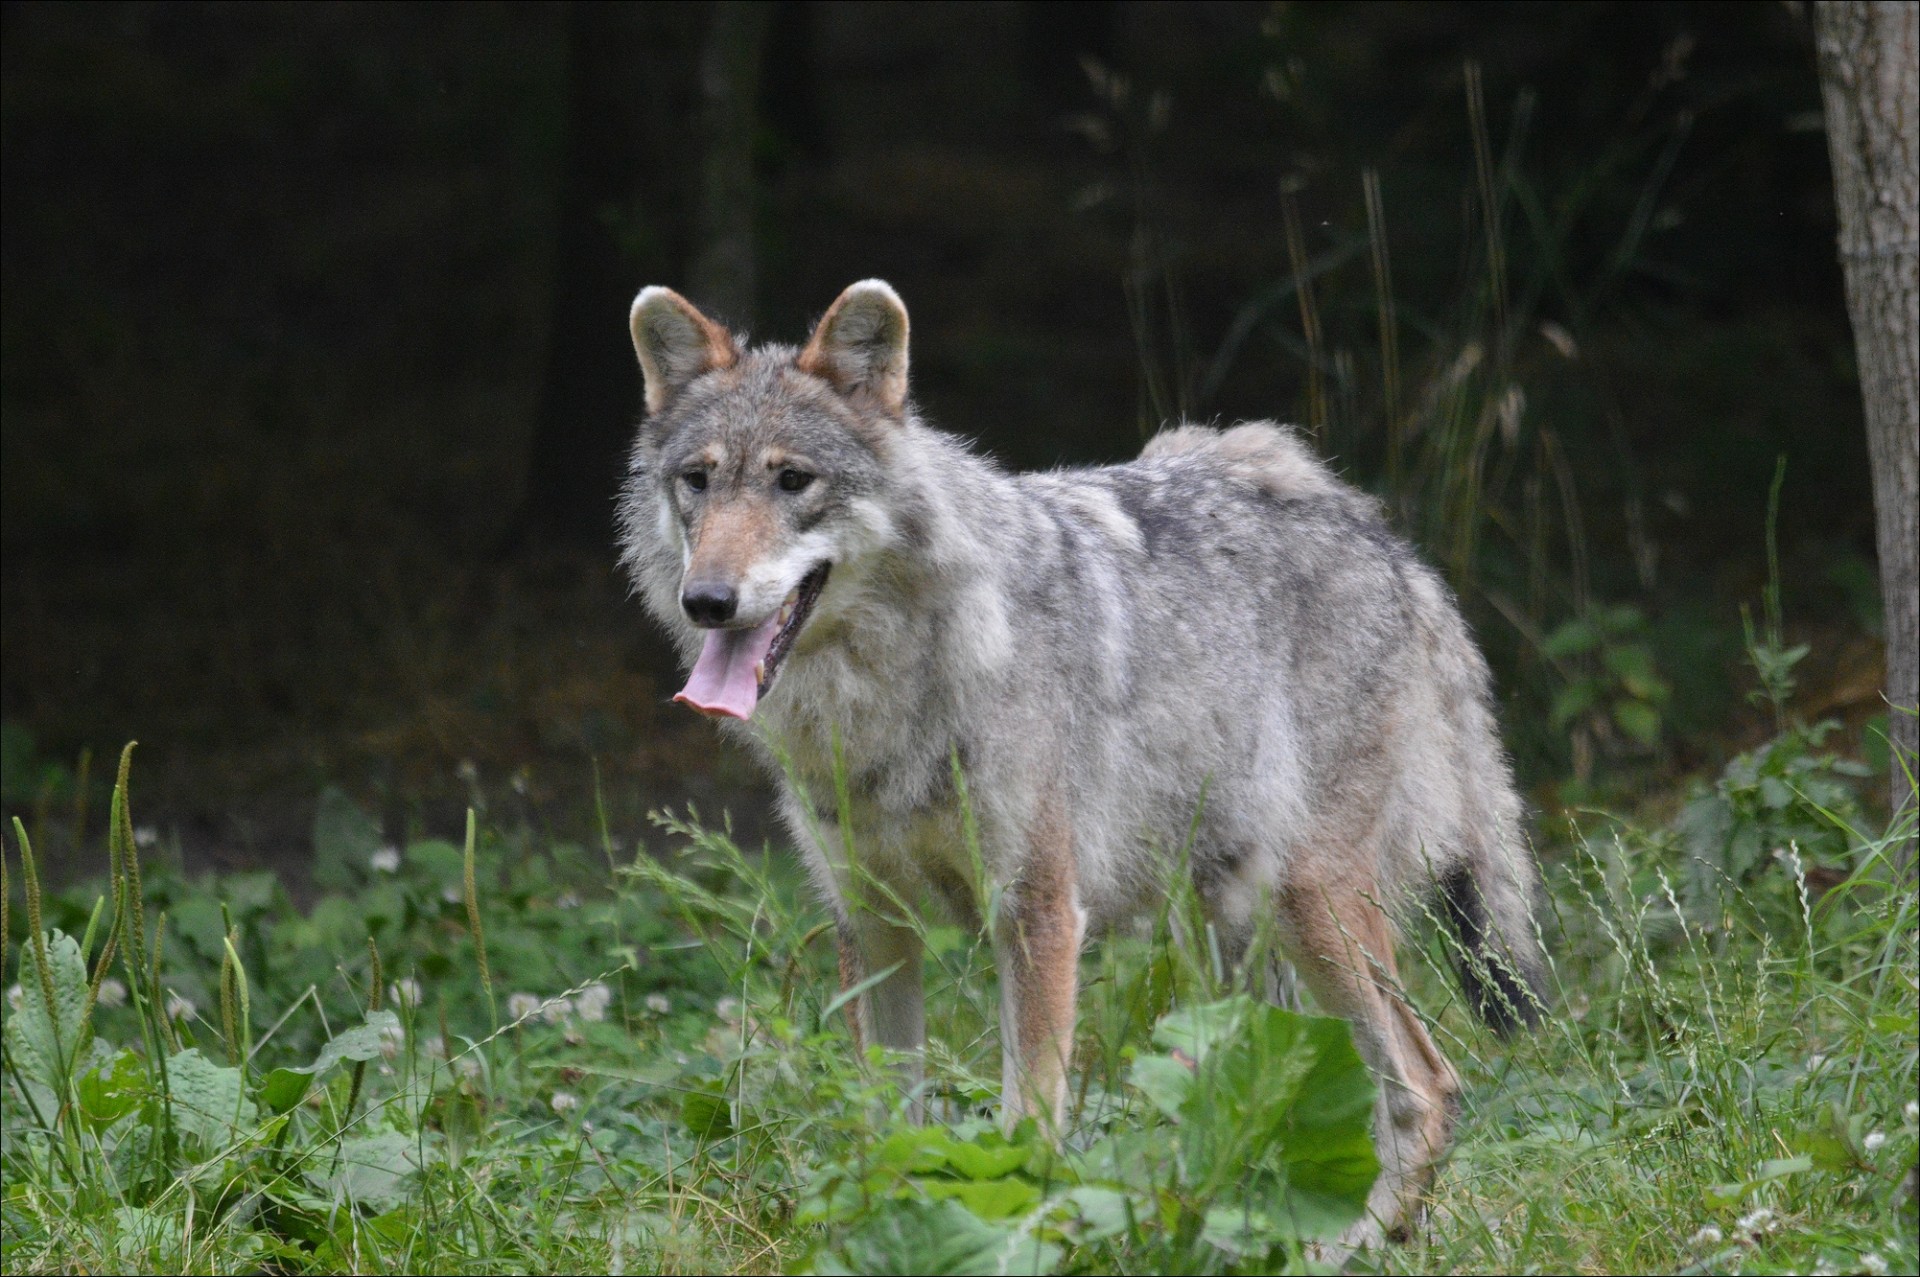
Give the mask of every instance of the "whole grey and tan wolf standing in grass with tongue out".
[[1544, 954], [1486, 663], [1375, 503], [1269, 422], [1010, 474], [914, 409], [883, 280], [799, 349], [659, 286], [630, 326], [622, 563], [687, 668], [674, 699], [781, 782], [843, 985], [868, 985], [856, 1037], [904, 1052], [918, 1104], [906, 910], [985, 924], [1004, 1114], [1058, 1129], [1081, 947], [1164, 901], [1185, 849], [1223, 952], [1267, 926], [1352, 1022], [1379, 1077], [1369, 1214], [1415, 1221], [1459, 1079], [1402, 991], [1396, 916], [1436, 897], [1500, 1029], [1540, 1016]]

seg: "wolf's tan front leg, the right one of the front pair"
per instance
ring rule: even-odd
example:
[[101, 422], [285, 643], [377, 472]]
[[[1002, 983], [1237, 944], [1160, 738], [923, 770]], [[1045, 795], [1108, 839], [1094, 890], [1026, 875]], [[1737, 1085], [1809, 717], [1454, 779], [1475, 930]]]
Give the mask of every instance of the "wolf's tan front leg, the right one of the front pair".
[[1073, 841], [1043, 822], [1020, 881], [995, 920], [1000, 968], [1000, 1104], [1008, 1127], [1025, 1116], [1066, 1121], [1068, 1062], [1087, 912], [1079, 906]]

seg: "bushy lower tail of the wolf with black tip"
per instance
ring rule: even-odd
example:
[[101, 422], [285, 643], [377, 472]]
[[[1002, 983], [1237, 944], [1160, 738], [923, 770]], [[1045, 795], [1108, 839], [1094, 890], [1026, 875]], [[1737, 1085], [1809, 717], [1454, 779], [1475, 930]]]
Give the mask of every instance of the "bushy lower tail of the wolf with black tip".
[[1453, 935], [1453, 966], [1473, 1010], [1507, 1035], [1534, 1027], [1546, 1010], [1548, 964], [1534, 926], [1540, 874], [1517, 839], [1448, 868], [1440, 912]]

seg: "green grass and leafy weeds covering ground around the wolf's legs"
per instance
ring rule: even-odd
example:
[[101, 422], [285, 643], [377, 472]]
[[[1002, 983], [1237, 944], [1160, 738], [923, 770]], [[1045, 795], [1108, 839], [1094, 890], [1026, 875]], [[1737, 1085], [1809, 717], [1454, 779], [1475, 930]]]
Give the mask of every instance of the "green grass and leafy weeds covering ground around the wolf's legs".
[[[1738, 807], [1728, 837], [1801, 818]], [[1085, 958], [1054, 1152], [991, 1120], [979, 937], [927, 928], [939, 1118], [910, 1127], [791, 860], [693, 818], [657, 858], [384, 849], [336, 812], [305, 910], [142, 855], [125, 766], [111, 828], [100, 891], [15, 860], [8, 1271], [1271, 1271], [1365, 1193], [1344, 1027], [1236, 997], [1179, 889]], [[1885, 856], [1912, 816], [1832, 831], [1843, 874], [1791, 839], [1703, 893], [1684, 822], [1586, 818], [1546, 856], [1555, 1012], [1511, 1043], [1428, 935], [1405, 970], [1459, 1144], [1425, 1233], [1352, 1265], [1910, 1271], [1916, 897]]]

